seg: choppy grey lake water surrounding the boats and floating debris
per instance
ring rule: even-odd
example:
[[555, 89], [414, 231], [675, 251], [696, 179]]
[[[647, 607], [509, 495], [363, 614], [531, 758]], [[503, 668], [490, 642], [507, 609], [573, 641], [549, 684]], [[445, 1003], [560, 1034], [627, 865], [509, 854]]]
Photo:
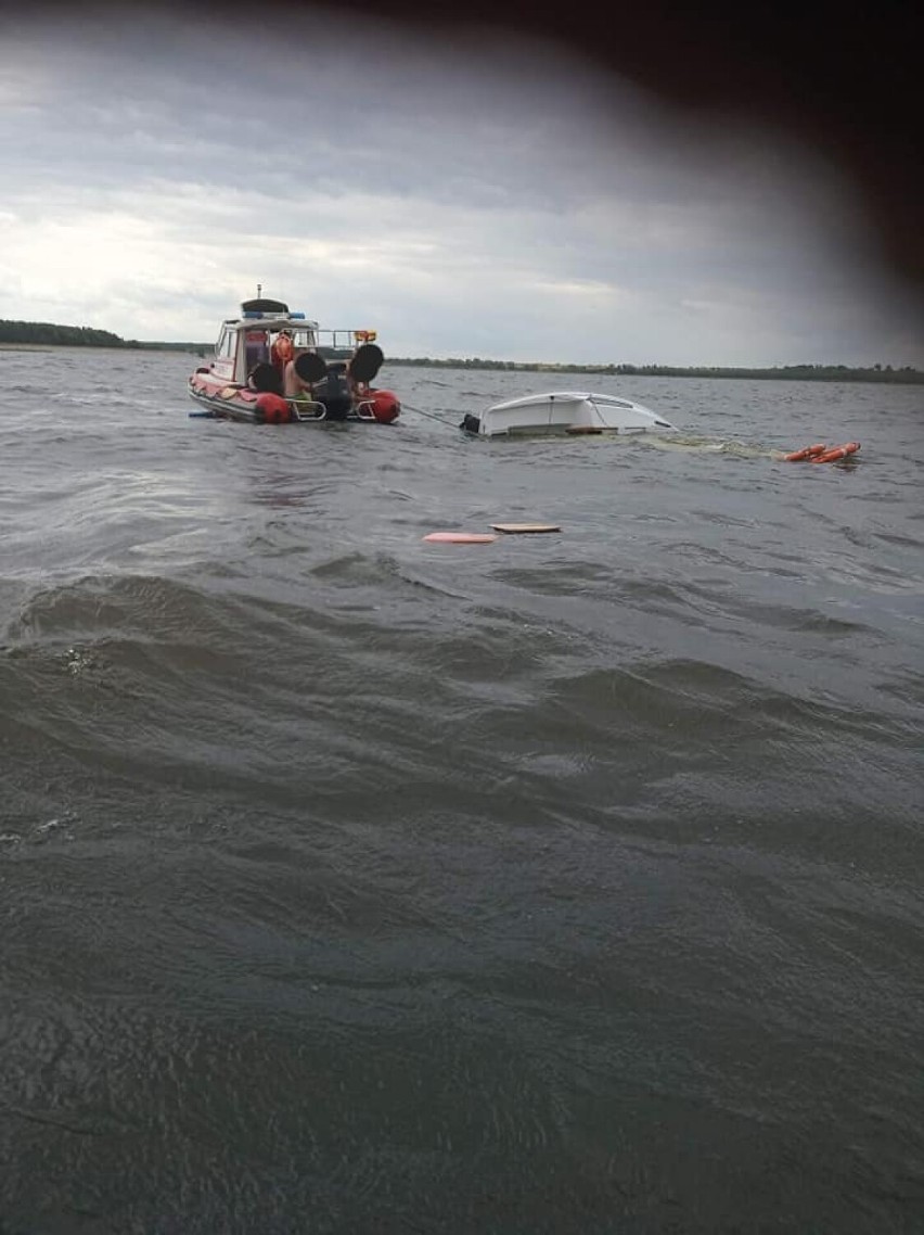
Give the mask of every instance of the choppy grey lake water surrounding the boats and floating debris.
[[195, 363], [0, 352], [5, 1235], [924, 1229], [924, 390]]

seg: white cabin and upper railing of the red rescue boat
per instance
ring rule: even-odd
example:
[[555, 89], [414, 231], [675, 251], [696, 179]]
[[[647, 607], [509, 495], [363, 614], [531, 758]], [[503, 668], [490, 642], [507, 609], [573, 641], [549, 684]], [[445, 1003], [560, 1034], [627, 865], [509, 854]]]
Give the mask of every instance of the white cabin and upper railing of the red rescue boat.
[[[291, 346], [280, 342], [284, 336]], [[301, 351], [317, 352], [326, 361], [348, 361], [357, 347], [374, 340], [374, 330], [318, 330], [316, 321], [281, 300], [244, 300], [241, 316], [221, 324], [210, 369], [243, 385], [254, 364], [280, 364], [280, 357], [285, 361]]]

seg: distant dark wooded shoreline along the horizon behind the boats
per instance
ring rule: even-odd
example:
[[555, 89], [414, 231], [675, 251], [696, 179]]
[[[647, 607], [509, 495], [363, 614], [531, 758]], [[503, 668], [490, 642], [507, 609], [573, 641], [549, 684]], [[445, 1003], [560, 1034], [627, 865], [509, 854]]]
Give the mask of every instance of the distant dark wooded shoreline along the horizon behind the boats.
[[[56, 326], [51, 322], [0, 321], [0, 351], [47, 352], [58, 347], [105, 348], [137, 352], [190, 352], [206, 357], [211, 343], [167, 343], [125, 340], [105, 330], [86, 326]], [[889, 385], [924, 385], [924, 371], [910, 366], [868, 368], [848, 364], [781, 364], [772, 368], [680, 364], [551, 364], [542, 361], [489, 361], [481, 357], [386, 357], [387, 364], [408, 368], [472, 369], [506, 373], [588, 374], [595, 377], [643, 378], [738, 378], [756, 382], [880, 382]]]

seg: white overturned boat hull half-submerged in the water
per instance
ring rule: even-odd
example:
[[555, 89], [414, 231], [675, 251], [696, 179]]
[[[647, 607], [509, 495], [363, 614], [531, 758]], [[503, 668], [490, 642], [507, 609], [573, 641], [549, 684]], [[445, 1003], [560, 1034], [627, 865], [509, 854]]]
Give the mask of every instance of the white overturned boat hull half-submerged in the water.
[[590, 390], [550, 390], [508, 399], [461, 424], [479, 437], [556, 433], [669, 433], [676, 425], [640, 403]]

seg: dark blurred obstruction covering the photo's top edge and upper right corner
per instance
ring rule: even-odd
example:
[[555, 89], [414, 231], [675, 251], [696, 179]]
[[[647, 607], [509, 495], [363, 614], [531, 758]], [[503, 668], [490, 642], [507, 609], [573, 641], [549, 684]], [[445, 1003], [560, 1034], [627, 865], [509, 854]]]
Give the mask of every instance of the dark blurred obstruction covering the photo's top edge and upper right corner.
[[[0, 0], [5, 11], [10, 0]], [[94, 5], [91, 11], [102, 5]], [[291, 32], [311, 56], [312, 20], [386, 17], [452, 47], [464, 26], [490, 38], [539, 37], [587, 56], [677, 109], [717, 126], [728, 119], [777, 125], [835, 163], [857, 186], [881, 242], [883, 264], [924, 295], [922, 125], [924, 5], [885, 0], [844, 2], [671, 4], [667, 0], [592, 4], [591, 0], [315, 0], [281, 5], [225, 0], [180, 5], [142, 0], [112, 4], [125, 19], [138, 9], [211, 17], [221, 30]], [[35, 0], [31, 14], [72, 12]], [[2, 10], [0, 10], [2, 11]], [[207, 56], [204, 47], [202, 54]], [[466, 47], [466, 54], [468, 47]], [[361, 67], [358, 69], [361, 72]]]

